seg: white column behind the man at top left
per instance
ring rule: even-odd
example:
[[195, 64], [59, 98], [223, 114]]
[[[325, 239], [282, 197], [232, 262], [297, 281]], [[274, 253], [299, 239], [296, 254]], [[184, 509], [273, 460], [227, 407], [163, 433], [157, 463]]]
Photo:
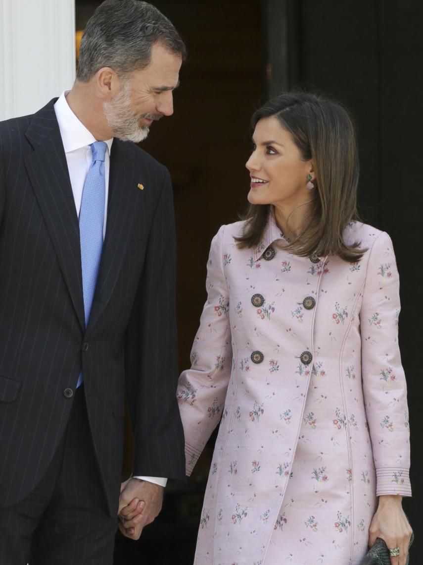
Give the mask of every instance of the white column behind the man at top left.
[[74, 77], [74, 0], [0, 0], [0, 120], [32, 114]]

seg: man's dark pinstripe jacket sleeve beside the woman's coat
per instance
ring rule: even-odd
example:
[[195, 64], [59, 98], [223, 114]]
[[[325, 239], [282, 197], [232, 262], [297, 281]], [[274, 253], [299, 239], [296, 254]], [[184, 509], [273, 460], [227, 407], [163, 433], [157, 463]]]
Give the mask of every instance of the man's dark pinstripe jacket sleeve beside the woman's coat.
[[183, 429], [175, 392], [175, 227], [167, 169], [126, 332], [126, 398], [134, 433], [134, 476], [185, 478]]

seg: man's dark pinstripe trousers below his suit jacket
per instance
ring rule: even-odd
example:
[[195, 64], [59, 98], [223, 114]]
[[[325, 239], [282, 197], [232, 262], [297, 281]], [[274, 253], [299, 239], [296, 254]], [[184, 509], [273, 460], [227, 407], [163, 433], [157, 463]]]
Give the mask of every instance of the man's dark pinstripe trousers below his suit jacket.
[[98, 472], [81, 388], [41, 483], [0, 509], [0, 563], [111, 565], [117, 518], [109, 516]]

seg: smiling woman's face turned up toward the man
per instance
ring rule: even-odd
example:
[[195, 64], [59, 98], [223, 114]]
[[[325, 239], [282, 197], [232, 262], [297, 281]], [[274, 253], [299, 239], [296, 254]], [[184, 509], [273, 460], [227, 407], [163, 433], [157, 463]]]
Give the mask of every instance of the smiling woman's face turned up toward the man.
[[253, 153], [245, 164], [250, 171], [248, 201], [295, 208], [313, 198], [307, 176], [315, 174], [311, 161], [303, 161], [291, 134], [277, 118], [258, 121], [253, 134]]

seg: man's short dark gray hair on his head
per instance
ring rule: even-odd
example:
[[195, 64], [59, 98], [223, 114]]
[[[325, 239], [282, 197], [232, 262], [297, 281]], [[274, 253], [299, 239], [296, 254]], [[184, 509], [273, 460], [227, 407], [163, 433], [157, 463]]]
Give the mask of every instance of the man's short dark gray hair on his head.
[[140, 0], [105, 0], [82, 35], [77, 79], [88, 82], [102, 67], [112, 68], [120, 77], [143, 69], [155, 43], [186, 58], [179, 33], [155, 6]]

